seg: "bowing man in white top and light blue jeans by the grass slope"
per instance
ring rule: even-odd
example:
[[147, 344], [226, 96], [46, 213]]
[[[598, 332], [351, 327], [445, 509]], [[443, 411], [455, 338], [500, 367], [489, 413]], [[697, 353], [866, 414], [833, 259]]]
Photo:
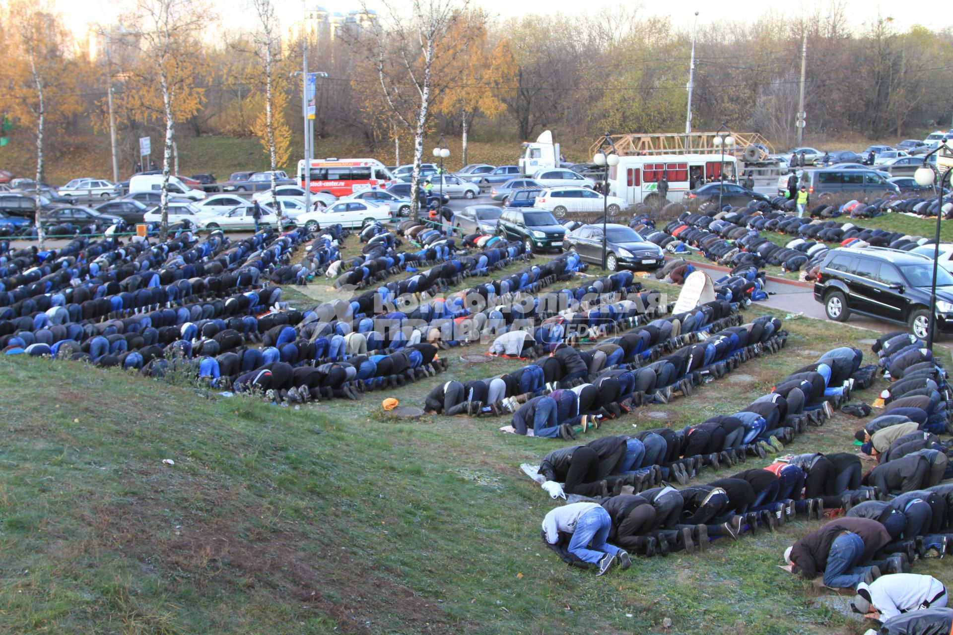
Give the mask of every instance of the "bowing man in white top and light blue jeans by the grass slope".
[[557, 545], [560, 531], [572, 534], [569, 552], [583, 562], [597, 565], [596, 575], [608, 571], [617, 557], [623, 569], [632, 565], [628, 553], [606, 543], [611, 528], [609, 512], [597, 503], [573, 503], [557, 507], [551, 509], [542, 521], [546, 543]]

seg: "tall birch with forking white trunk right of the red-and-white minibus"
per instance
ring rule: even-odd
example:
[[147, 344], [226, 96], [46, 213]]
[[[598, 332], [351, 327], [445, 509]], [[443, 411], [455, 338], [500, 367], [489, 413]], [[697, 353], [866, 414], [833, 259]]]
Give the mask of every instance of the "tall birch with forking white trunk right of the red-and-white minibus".
[[411, 217], [416, 218], [420, 163], [431, 107], [460, 78], [456, 58], [474, 37], [474, 30], [461, 29], [461, 25], [467, 20], [485, 20], [485, 16], [468, 11], [470, 0], [411, 0], [409, 5], [383, 5], [387, 20], [375, 22], [373, 37], [358, 37], [356, 41], [374, 60], [384, 103], [397, 126], [414, 137]]

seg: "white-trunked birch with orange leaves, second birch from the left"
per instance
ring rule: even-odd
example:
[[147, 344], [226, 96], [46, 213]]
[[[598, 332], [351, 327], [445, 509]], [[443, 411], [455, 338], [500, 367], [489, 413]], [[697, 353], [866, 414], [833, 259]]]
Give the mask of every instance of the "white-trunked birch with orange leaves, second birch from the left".
[[192, 70], [190, 47], [211, 18], [207, 7], [195, 0], [138, 0], [137, 13], [140, 46], [162, 95], [162, 119], [166, 131], [162, 149], [162, 227], [159, 240], [164, 241], [169, 233], [169, 176], [176, 102], [181, 96], [179, 89], [183, 79]]

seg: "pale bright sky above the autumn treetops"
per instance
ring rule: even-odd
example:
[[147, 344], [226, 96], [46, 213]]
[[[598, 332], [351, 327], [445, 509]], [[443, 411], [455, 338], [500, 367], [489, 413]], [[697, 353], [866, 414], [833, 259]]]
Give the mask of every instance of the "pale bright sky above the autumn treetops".
[[[53, 0], [57, 9], [60, 10], [67, 19], [67, 24], [77, 36], [82, 36], [86, 32], [88, 23], [111, 23], [117, 20], [123, 11], [123, 4], [115, 0]], [[127, 0], [129, 1], [129, 0]], [[620, 6], [619, 0], [546, 0], [545, 2], [514, 2], [513, 0], [471, 0], [475, 6], [487, 10], [491, 15], [500, 19], [522, 15], [526, 13], [544, 13], [561, 12], [573, 15], [579, 12], [580, 7], [585, 8], [589, 15], [596, 15], [600, 11], [610, 11]], [[399, 6], [406, 0], [395, 0]], [[635, 7], [638, 2], [633, 0], [623, 0], [624, 6]], [[844, 11], [848, 21], [853, 27], [861, 27], [866, 21], [876, 19], [878, 11], [884, 17], [894, 18], [894, 24], [901, 30], [908, 29], [915, 24], [921, 24], [933, 30], [941, 30], [953, 26], [953, 11], [950, 5], [943, 0], [923, 0], [917, 3], [917, 11], [900, 11], [902, 4], [896, 2], [878, 3], [871, 0], [840, 0], [846, 8]], [[132, 2], [130, 2], [130, 5]], [[242, 7], [242, 0], [209, 0], [208, 6], [216, 10], [222, 17], [221, 25], [226, 29], [247, 28], [250, 24], [249, 11], [235, 10]], [[301, 0], [275, 0], [279, 8], [279, 14], [282, 21], [287, 25], [298, 19], [302, 11]], [[375, 9], [374, 0], [368, 0], [368, 7]], [[757, 19], [766, 10], [775, 10], [781, 13], [795, 14], [796, 11], [804, 10], [809, 13], [815, 13], [817, 10], [824, 10], [830, 6], [830, 0], [798, 0], [789, 3], [765, 3], [762, 0], [737, 0], [734, 2], [719, 2], [717, 8], [713, 3], [701, 2], [700, 0], [666, 0], [664, 3], [644, 2], [644, 13], [646, 15], [668, 15], [672, 18], [677, 29], [691, 27], [693, 14], [696, 10], [700, 11], [699, 24], [704, 22], [728, 20], [728, 21], [753, 21]], [[340, 11], [347, 13], [349, 10], [360, 8], [360, 2], [344, 0], [337, 2], [335, 0], [309, 0], [309, 6], [320, 5], [327, 10]], [[383, 12], [383, 8], [376, 7]]]

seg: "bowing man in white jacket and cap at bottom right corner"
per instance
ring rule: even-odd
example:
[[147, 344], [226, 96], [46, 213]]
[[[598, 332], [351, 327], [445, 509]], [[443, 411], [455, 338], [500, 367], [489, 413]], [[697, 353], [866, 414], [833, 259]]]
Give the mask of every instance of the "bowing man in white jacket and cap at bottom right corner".
[[946, 587], [933, 576], [894, 573], [883, 575], [869, 585], [857, 585], [851, 608], [864, 617], [886, 622], [901, 613], [942, 608], [946, 601]]

